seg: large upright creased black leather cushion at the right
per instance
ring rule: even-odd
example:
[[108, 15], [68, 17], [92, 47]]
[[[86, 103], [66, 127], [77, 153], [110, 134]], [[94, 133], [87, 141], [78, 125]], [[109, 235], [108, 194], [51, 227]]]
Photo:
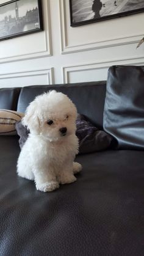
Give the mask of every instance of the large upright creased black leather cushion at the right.
[[103, 125], [118, 148], [144, 149], [144, 66], [109, 68]]

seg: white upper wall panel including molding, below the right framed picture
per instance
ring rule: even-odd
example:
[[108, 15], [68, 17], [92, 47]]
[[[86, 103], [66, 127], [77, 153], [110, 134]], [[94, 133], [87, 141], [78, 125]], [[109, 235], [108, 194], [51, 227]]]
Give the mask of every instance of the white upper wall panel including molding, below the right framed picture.
[[[128, 45], [137, 43], [143, 37], [143, 14], [139, 14], [140, 32], [137, 32], [138, 29], [135, 27], [137, 17], [134, 15], [123, 17], [123, 20], [119, 18], [102, 21], [101, 23], [70, 27], [69, 9], [69, 1], [59, 0], [62, 54]], [[124, 26], [121, 21], [124, 21]]]

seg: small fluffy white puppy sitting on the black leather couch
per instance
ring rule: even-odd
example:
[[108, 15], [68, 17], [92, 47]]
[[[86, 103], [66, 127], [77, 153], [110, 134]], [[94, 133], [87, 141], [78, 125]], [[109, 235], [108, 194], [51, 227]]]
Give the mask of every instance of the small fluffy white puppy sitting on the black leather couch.
[[26, 109], [23, 124], [31, 133], [18, 158], [17, 172], [34, 180], [40, 191], [76, 181], [82, 169], [74, 163], [78, 152], [77, 110], [67, 95], [52, 90], [39, 95]]

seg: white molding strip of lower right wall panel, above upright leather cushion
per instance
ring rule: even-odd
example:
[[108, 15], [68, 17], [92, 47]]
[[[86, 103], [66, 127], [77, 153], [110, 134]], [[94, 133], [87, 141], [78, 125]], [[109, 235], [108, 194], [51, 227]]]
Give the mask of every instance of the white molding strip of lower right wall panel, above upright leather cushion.
[[103, 68], [109, 68], [112, 65], [144, 65], [144, 55], [141, 57], [129, 57], [127, 59], [103, 60], [99, 62], [90, 62], [85, 64], [76, 64], [62, 67], [62, 81], [67, 84], [70, 81], [70, 73], [77, 71], [90, 71]]

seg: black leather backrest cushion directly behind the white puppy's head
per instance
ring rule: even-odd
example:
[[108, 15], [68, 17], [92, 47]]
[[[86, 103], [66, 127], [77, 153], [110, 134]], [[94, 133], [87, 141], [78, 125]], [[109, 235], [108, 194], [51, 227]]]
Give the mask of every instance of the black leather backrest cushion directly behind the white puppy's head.
[[27, 86], [21, 89], [18, 100], [18, 111], [25, 112], [28, 104], [37, 95], [48, 90], [63, 92], [76, 104], [77, 112], [84, 114], [98, 128], [103, 127], [104, 100], [106, 97], [106, 81], [80, 82], [75, 84], [56, 84], [55, 86]]

